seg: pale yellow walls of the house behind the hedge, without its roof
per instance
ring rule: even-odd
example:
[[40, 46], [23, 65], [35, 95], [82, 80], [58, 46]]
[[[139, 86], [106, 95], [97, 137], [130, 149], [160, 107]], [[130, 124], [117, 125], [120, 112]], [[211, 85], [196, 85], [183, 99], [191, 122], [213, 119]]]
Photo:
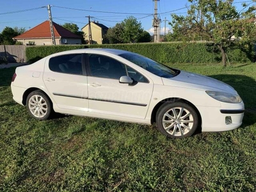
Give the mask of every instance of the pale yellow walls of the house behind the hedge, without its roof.
[[[102, 44], [102, 28], [91, 22], [92, 40], [93, 44]], [[89, 41], [89, 25], [86, 25], [82, 31], [84, 32], [84, 39]]]

